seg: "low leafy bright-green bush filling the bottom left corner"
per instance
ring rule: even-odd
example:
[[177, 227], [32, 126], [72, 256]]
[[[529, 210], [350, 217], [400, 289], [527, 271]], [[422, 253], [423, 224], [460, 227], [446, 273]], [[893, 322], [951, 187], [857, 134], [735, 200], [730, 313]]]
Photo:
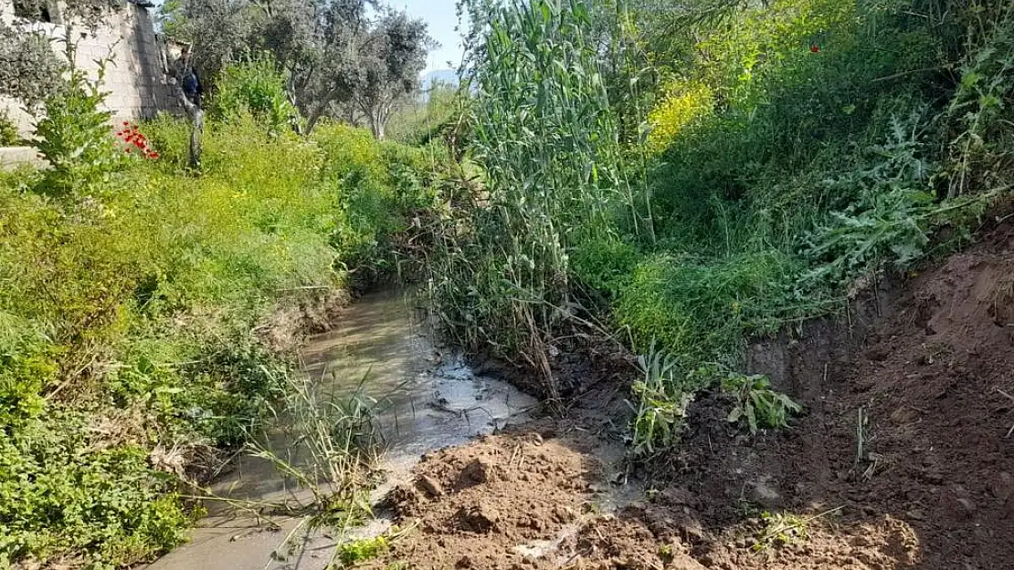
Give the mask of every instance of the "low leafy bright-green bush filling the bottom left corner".
[[172, 478], [138, 445], [103, 441], [96, 419], [55, 408], [0, 438], [0, 563], [87, 553], [126, 566], [183, 542]]

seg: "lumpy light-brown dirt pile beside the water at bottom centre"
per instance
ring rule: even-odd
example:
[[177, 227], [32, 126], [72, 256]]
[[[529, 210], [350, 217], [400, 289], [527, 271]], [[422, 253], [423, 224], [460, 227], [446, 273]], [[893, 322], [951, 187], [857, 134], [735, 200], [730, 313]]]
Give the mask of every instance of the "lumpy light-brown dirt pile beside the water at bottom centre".
[[418, 526], [389, 558], [413, 568], [530, 567], [525, 545], [574, 523], [598, 479], [590, 458], [535, 432], [428, 455], [415, 473], [413, 485], [388, 496], [403, 526]]

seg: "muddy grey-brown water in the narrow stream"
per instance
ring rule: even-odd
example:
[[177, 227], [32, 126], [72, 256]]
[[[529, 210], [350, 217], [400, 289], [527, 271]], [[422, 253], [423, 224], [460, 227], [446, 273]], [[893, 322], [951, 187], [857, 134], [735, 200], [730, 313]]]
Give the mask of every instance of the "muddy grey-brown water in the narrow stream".
[[[426, 452], [465, 442], [520, 421], [535, 401], [513, 387], [476, 377], [459, 355], [438, 347], [420, 324], [413, 298], [386, 292], [366, 296], [342, 316], [331, 333], [302, 351], [303, 372], [324, 392], [358, 393], [374, 406], [386, 442], [380, 468], [385, 482], [378, 498], [404, 481]], [[274, 441], [276, 452], [286, 441]], [[339, 537], [306, 538], [296, 553], [282, 553], [290, 535], [302, 536], [300, 518], [271, 522], [241, 508], [242, 502], [277, 501], [305, 491], [293, 489], [273, 466], [238, 458], [231, 472], [213, 485], [219, 496], [189, 544], [150, 565], [152, 570], [319, 569], [331, 559]], [[237, 505], [239, 505], [237, 507]], [[360, 534], [382, 528], [378, 519]], [[278, 560], [282, 558], [283, 560]]]

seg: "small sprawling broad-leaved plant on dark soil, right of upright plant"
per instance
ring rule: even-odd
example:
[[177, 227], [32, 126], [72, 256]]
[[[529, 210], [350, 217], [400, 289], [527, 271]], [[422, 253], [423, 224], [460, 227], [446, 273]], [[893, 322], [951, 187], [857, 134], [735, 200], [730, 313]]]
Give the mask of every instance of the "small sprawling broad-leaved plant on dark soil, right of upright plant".
[[792, 398], [772, 390], [765, 376], [730, 374], [722, 381], [722, 390], [735, 397], [729, 422], [745, 423], [751, 434], [759, 428], [788, 427], [789, 418], [803, 411]]

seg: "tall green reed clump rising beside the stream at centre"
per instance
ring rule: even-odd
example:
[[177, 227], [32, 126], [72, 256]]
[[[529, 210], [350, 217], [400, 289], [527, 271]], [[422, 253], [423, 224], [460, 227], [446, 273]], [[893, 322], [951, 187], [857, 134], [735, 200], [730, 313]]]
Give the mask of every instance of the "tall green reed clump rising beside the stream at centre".
[[434, 306], [465, 345], [520, 355], [556, 399], [547, 351], [573, 305], [569, 252], [649, 230], [621, 168], [589, 5], [514, 0], [484, 10], [466, 78], [481, 174], [467, 217], [444, 232]]

